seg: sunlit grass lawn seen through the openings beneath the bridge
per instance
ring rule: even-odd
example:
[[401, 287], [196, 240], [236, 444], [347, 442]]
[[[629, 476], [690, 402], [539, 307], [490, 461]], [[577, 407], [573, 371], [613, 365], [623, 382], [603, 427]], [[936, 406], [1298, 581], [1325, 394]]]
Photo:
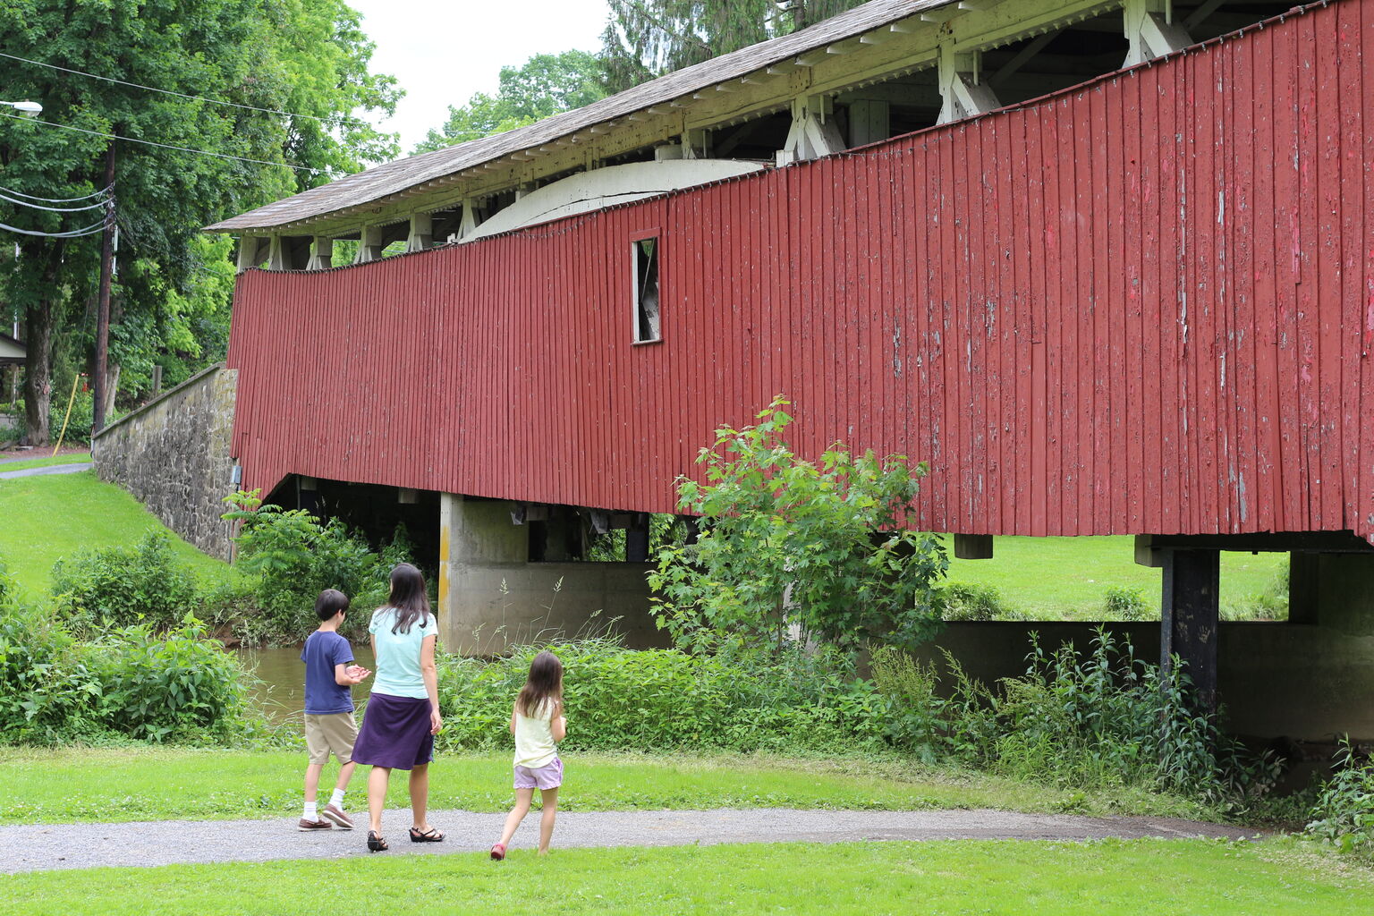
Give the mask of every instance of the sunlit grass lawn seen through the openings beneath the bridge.
[[[1272, 588], [1287, 553], [1221, 553], [1221, 606], [1239, 606]], [[1136, 566], [1135, 538], [998, 537], [991, 560], [949, 553], [949, 580], [991, 585], [1033, 619], [1101, 619], [1107, 586], [1140, 589], [1158, 617], [1160, 570]]]

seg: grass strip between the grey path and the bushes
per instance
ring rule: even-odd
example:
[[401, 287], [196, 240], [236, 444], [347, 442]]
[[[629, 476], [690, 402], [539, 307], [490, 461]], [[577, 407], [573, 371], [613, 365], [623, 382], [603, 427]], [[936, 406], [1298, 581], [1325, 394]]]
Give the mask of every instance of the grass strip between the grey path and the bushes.
[[[441, 754], [430, 806], [497, 812], [511, 803], [510, 754]], [[190, 748], [0, 748], [0, 824], [283, 817], [298, 810], [305, 753]], [[333, 784], [331, 764], [322, 784]], [[387, 803], [408, 805], [392, 780]], [[361, 808], [365, 773], [349, 788]], [[567, 810], [998, 808], [1205, 818], [1198, 803], [1138, 790], [1080, 792], [980, 773], [922, 770], [910, 759], [738, 755], [567, 757]]]

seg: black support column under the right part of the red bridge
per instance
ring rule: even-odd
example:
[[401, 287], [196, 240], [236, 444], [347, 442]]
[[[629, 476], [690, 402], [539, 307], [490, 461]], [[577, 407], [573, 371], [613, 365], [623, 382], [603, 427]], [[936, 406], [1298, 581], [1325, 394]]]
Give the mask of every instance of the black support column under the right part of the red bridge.
[[1160, 659], [1167, 672], [1179, 656], [1208, 713], [1216, 711], [1220, 560], [1219, 551], [1164, 551]]

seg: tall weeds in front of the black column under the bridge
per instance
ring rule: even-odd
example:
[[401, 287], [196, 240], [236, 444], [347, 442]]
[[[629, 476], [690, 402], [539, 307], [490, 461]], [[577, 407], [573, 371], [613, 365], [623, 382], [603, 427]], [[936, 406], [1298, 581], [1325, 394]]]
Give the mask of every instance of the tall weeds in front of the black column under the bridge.
[[899, 747], [1009, 776], [1074, 788], [1135, 786], [1209, 801], [1267, 788], [1267, 761], [1249, 758], [1216, 718], [1194, 711], [1182, 665], [1168, 674], [1099, 629], [1087, 652], [1046, 652], [1032, 639], [1026, 673], [988, 689], [947, 654], [952, 685], [936, 665], [874, 655], [889, 702], [886, 733]]

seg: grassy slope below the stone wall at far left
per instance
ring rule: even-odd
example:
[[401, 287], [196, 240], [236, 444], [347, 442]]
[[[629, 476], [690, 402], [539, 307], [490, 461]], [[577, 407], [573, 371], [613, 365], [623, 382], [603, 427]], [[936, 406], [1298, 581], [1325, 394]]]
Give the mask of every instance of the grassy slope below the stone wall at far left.
[[[63, 556], [84, 547], [133, 547], [146, 531], [168, 531], [142, 503], [93, 471], [0, 481], [0, 560], [34, 596], [52, 588], [52, 564]], [[232, 574], [228, 563], [176, 534], [172, 541], [202, 581]]]

